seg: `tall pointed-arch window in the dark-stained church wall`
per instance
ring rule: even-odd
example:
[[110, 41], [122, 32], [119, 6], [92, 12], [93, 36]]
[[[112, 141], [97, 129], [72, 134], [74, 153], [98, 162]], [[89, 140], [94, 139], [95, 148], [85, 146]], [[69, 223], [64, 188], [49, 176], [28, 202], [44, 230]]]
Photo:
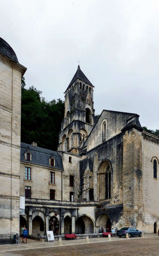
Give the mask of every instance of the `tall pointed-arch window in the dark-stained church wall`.
[[98, 188], [100, 202], [111, 198], [111, 175], [112, 169], [110, 162], [108, 160], [104, 160], [100, 165], [98, 172]]

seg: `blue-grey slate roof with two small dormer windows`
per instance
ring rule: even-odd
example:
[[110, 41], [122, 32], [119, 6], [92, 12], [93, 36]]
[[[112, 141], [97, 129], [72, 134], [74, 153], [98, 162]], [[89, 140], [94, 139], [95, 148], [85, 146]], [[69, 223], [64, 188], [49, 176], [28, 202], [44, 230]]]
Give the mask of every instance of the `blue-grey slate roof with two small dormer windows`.
[[[21, 150], [20, 150], [20, 160], [21, 161], [27, 162], [25, 160], [24, 153], [27, 150], [29, 150], [29, 152], [32, 154], [32, 161], [29, 161], [29, 163], [42, 164], [42, 165], [49, 166], [52, 168], [60, 168], [60, 169], [64, 170], [63, 164], [62, 164], [62, 157], [56, 151], [32, 146], [30, 144], [26, 144], [23, 142], [21, 142], [20, 146], [21, 146]], [[55, 158], [55, 166], [50, 166], [50, 164], [49, 164], [49, 158], [52, 156]]]

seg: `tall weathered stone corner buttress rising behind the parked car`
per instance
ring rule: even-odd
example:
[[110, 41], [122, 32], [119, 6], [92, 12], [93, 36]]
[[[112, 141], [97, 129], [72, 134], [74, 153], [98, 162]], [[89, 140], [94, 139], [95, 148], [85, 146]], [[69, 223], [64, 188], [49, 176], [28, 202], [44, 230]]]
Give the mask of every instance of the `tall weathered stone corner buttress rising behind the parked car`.
[[123, 134], [123, 210], [124, 225], [143, 230], [141, 132], [130, 129]]

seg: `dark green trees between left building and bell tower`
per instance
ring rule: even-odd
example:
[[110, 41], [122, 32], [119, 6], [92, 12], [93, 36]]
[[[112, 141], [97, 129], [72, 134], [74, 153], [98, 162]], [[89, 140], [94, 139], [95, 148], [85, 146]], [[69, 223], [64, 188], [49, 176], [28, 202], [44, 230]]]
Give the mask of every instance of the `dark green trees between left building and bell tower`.
[[21, 141], [39, 147], [57, 150], [58, 134], [64, 117], [64, 101], [46, 101], [41, 91], [34, 86], [25, 89], [22, 80], [21, 96]]

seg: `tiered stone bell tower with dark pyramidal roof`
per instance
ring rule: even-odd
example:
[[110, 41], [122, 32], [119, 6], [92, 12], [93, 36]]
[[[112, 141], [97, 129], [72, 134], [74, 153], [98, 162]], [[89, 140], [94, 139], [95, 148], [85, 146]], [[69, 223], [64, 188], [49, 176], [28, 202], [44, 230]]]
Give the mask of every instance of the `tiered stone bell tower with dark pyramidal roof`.
[[93, 84], [78, 65], [75, 75], [64, 92], [65, 113], [59, 134], [59, 151], [79, 154], [80, 148], [91, 132], [97, 119], [93, 108], [93, 88]]

